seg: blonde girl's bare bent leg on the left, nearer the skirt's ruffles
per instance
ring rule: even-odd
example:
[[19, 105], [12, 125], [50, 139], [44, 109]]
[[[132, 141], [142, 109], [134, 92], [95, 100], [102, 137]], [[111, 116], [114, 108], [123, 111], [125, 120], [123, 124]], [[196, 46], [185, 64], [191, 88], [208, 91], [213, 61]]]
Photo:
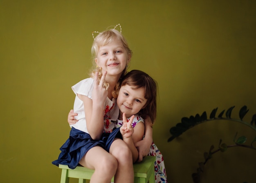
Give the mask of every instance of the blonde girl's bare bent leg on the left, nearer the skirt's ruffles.
[[79, 163], [95, 170], [90, 183], [110, 183], [118, 165], [117, 159], [99, 146], [90, 149]]

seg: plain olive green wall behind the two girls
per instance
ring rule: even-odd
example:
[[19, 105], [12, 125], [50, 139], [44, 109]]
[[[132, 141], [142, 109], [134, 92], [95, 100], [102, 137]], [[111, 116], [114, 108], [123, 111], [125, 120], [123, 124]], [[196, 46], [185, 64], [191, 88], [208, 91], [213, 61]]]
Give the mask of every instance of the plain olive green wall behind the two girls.
[[[57, 183], [52, 165], [69, 134], [71, 86], [88, 76], [92, 31], [120, 23], [131, 69], [159, 84], [153, 139], [169, 183], [192, 183], [203, 153], [220, 138], [255, 131], [208, 122], [167, 142], [184, 116], [243, 105], [256, 113], [256, 2], [250, 0], [0, 0], [0, 177], [2, 183]], [[207, 163], [204, 183], [255, 182], [256, 151], [230, 148]], [[74, 180], [72, 180], [74, 181]]]

